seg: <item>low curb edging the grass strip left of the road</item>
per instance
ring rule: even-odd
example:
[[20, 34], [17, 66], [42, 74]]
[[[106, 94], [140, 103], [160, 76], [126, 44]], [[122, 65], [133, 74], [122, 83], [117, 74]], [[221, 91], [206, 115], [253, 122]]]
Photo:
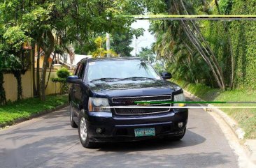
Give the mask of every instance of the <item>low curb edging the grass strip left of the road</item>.
[[15, 125], [17, 123], [22, 123], [24, 121], [28, 121], [28, 120], [37, 118], [39, 116], [43, 116], [45, 114], [49, 114], [51, 112], [55, 112], [59, 109], [63, 109], [64, 107], [67, 107], [68, 105], [69, 105], [69, 103], [66, 103], [64, 105], [59, 105], [59, 106], [55, 107], [54, 109], [48, 109], [48, 110], [45, 110], [43, 112], [38, 112], [36, 114], [31, 114], [31, 116], [29, 116], [29, 117], [22, 117], [20, 119], [15, 119], [15, 121], [10, 121], [8, 123], [0, 124], [0, 129], [6, 128], [7, 126]]

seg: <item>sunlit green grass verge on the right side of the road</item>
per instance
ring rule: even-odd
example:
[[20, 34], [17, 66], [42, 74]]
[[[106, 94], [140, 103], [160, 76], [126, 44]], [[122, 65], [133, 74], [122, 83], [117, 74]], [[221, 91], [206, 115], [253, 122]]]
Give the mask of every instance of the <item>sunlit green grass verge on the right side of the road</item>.
[[[171, 79], [180, 85], [186, 91], [198, 96], [206, 101], [229, 101], [229, 102], [256, 102], [256, 91], [250, 90], [232, 90], [220, 91], [220, 89], [211, 89], [203, 84], [189, 84], [178, 79]], [[218, 104], [216, 104], [218, 106]], [[256, 106], [256, 104], [221, 104], [221, 106]], [[256, 139], [256, 109], [222, 109], [246, 132], [246, 139]]]

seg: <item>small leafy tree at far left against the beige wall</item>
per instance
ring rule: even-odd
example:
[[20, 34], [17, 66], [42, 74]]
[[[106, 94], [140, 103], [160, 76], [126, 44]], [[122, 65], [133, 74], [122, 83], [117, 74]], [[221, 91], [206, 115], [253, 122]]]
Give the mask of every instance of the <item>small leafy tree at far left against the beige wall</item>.
[[[3, 24], [3, 23], [1, 23]], [[20, 26], [10, 26], [0, 31], [0, 59], [1, 59], [1, 103], [6, 102], [5, 91], [3, 89], [3, 74], [12, 73], [17, 79], [17, 100], [22, 99], [22, 77], [28, 67], [27, 50], [23, 49], [24, 41], [29, 38], [20, 29]]]

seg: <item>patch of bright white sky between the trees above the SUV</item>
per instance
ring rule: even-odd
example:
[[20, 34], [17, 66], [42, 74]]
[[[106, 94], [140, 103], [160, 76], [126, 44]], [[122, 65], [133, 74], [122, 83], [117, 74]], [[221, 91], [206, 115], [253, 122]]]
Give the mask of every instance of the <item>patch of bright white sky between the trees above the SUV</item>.
[[131, 55], [135, 56], [135, 44], [137, 43], [137, 54], [141, 51], [142, 47], [151, 47], [152, 43], [155, 42], [154, 36], [148, 31], [150, 26], [150, 23], [148, 20], [137, 20], [133, 24], [131, 24], [131, 27], [134, 29], [143, 28], [145, 29], [143, 36], [140, 36], [137, 40], [134, 36], [134, 39], [132, 40], [131, 47], [134, 47], [134, 50], [131, 51]]

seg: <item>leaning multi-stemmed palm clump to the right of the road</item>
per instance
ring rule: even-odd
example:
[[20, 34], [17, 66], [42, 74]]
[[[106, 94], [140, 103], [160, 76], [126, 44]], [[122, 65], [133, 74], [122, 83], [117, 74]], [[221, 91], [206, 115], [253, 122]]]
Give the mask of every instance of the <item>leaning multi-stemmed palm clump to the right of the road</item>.
[[[164, 12], [172, 15], [196, 15], [196, 10], [194, 10], [196, 6], [206, 6], [205, 1], [192, 2], [184, 0], [169, 0], [165, 2], [166, 11]], [[177, 60], [175, 56], [178, 55], [180, 59], [187, 59], [188, 65], [190, 65], [189, 61], [191, 60], [197, 61], [195, 56], [201, 56], [208, 68], [211, 70], [211, 74], [213, 75], [215, 82], [218, 84], [220, 89], [224, 90], [225, 78], [222, 73], [222, 68], [220, 67], [220, 63], [213, 52], [213, 49], [211, 49], [208, 41], [206, 41], [201, 33], [199, 24], [194, 20], [180, 20], [178, 22], [166, 21], [159, 24], [163, 29], [159, 29], [159, 31], [156, 30], [161, 36], [158, 37], [158, 43], [156, 43], [155, 49], [162, 50], [160, 55], [166, 56], [169, 61]], [[175, 50], [176, 52], [173, 52]], [[194, 53], [194, 51], [197, 52]], [[187, 66], [187, 68], [190, 69], [189, 66]], [[190, 72], [192, 72], [192, 70], [190, 70]]]

